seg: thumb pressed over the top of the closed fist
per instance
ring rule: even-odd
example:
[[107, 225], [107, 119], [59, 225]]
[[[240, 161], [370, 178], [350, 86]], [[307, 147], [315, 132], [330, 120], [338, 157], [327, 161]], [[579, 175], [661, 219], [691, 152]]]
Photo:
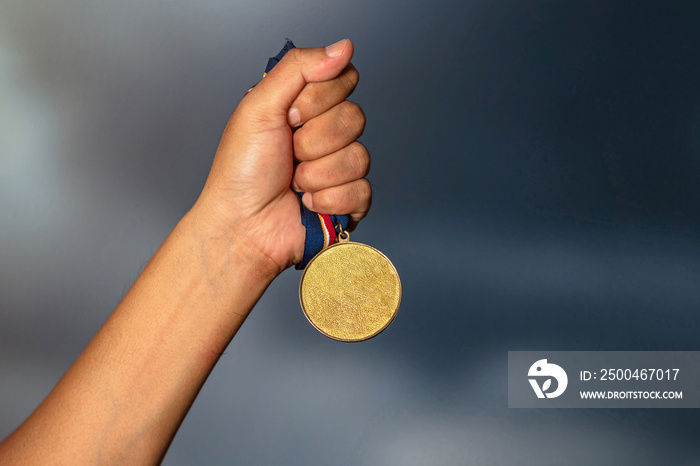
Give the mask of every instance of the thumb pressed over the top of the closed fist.
[[248, 93], [246, 104], [262, 114], [280, 115], [286, 120], [289, 107], [304, 86], [336, 78], [350, 63], [352, 54], [350, 39], [328, 47], [292, 49]]

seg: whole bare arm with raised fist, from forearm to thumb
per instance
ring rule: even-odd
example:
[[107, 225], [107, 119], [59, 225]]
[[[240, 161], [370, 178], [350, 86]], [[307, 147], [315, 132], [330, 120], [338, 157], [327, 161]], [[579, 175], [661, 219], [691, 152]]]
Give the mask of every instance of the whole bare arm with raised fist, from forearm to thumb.
[[[241, 102], [205, 187], [0, 464], [153, 464], [270, 282], [298, 262], [293, 189], [321, 213], [370, 205], [349, 40], [294, 49]], [[293, 127], [298, 131], [292, 132]], [[294, 161], [298, 164], [294, 164]]]

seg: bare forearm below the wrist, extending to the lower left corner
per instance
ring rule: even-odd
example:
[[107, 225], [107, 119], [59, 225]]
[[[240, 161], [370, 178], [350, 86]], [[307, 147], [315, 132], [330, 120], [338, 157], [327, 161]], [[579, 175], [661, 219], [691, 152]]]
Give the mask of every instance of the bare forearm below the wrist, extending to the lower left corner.
[[47, 399], [0, 445], [0, 463], [152, 463], [276, 274], [191, 211]]

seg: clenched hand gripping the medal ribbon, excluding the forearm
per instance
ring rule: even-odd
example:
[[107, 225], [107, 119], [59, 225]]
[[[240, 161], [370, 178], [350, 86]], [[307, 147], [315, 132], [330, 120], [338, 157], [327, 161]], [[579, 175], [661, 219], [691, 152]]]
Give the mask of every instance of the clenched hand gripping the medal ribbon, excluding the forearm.
[[350, 229], [369, 210], [369, 154], [356, 141], [365, 116], [345, 100], [359, 79], [352, 54], [347, 39], [289, 51], [233, 113], [195, 206], [269, 258], [276, 273], [303, 255], [293, 189], [306, 192], [310, 210], [349, 214]]

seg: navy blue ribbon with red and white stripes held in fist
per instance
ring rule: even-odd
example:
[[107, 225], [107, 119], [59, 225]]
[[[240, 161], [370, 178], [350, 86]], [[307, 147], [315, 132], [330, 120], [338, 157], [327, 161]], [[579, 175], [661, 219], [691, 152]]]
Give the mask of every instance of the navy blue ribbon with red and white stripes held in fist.
[[[282, 60], [287, 52], [294, 48], [291, 40], [282, 47], [282, 50], [267, 61], [267, 67], [263, 78]], [[248, 91], [250, 92], [250, 91]], [[306, 237], [304, 239], [304, 256], [296, 265], [297, 270], [302, 270], [314, 258], [316, 254], [323, 249], [335, 243], [337, 235], [340, 233], [340, 226], [347, 228], [349, 217], [347, 215], [328, 215], [319, 214], [307, 209], [301, 202], [301, 196], [304, 193], [295, 193], [299, 199], [299, 210], [301, 211], [301, 224], [306, 228]]]

